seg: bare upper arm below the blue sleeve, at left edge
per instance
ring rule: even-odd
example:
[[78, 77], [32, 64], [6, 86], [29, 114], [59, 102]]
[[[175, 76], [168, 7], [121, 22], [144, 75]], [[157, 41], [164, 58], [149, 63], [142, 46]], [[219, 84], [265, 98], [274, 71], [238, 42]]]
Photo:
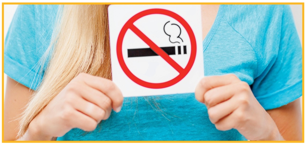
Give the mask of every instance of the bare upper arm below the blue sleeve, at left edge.
[[33, 90], [7, 77], [4, 97], [4, 140], [15, 140], [18, 130], [18, 117], [28, 103]]

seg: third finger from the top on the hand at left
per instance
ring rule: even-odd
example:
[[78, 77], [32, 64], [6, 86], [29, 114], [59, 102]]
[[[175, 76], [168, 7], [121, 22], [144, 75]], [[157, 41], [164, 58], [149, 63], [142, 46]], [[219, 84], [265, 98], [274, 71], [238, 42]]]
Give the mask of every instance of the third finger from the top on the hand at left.
[[80, 97], [76, 97], [75, 103], [72, 105], [77, 111], [95, 119], [96, 122], [100, 122], [100, 120], [102, 120], [106, 114], [106, 111], [99, 106]]

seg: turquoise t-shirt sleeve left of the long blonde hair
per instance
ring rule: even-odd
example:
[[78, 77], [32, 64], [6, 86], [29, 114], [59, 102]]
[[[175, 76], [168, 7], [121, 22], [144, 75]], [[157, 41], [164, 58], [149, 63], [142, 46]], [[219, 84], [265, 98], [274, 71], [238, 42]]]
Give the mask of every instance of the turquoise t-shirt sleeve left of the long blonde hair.
[[33, 5], [19, 5], [6, 35], [4, 44], [4, 73], [31, 88], [37, 72], [35, 56], [35, 13]]

